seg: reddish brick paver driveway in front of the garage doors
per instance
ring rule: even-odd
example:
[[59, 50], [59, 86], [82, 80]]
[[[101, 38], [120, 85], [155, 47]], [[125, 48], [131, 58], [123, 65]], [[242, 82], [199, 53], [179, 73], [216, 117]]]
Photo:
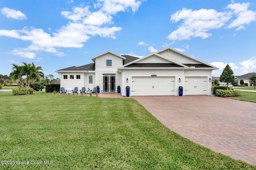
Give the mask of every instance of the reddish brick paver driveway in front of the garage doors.
[[134, 96], [172, 131], [256, 165], [256, 103], [216, 96]]

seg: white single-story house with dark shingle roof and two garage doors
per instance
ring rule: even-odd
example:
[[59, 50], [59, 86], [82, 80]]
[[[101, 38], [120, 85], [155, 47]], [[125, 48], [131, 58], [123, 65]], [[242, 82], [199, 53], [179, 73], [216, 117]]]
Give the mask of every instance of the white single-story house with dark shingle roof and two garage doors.
[[179, 86], [183, 95], [211, 95], [212, 70], [217, 67], [167, 47], [142, 58], [118, 55], [107, 51], [91, 58], [93, 63], [56, 70], [60, 74], [60, 86], [66, 90], [74, 87], [100, 92], [117, 92], [121, 87], [126, 96], [178, 96]]

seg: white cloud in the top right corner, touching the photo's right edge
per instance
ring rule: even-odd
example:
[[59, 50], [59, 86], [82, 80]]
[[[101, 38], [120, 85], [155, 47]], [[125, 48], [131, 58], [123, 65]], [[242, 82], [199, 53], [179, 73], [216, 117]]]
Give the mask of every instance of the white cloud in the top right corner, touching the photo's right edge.
[[241, 26], [243, 26], [244, 24], [250, 24], [252, 21], [256, 20], [256, 12], [248, 10], [249, 6], [250, 3], [236, 3], [228, 5], [227, 8], [231, 9], [233, 14], [237, 16], [237, 18], [228, 25], [228, 28], [238, 27], [239, 29], [241, 29], [243, 28]]

